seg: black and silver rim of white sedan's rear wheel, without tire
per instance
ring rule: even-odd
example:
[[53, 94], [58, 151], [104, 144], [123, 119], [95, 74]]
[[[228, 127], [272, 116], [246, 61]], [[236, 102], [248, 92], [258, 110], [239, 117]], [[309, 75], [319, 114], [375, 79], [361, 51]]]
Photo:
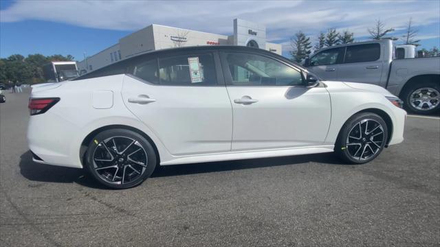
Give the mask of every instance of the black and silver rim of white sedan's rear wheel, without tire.
[[[98, 142], [98, 141], [96, 141]], [[94, 171], [114, 185], [131, 183], [146, 171], [148, 157], [139, 141], [129, 137], [110, 137], [96, 145]]]

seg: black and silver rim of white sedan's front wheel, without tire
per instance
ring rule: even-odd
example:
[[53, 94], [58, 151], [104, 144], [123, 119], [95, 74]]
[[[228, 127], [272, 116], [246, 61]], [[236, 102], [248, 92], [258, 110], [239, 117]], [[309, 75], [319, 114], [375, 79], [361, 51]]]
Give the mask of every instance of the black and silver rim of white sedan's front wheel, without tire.
[[382, 149], [384, 128], [373, 119], [364, 119], [355, 124], [347, 137], [347, 152], [358, 161], [366, 161]]

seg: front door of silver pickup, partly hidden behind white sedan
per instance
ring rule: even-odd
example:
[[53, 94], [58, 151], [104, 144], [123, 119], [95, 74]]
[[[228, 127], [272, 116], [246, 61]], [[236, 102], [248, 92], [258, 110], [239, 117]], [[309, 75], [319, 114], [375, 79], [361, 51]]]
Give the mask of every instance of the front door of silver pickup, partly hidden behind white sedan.
[[310, 58], [307, 69], [323, 80], [337, 80], [338, 66], [344, 56], [343, 51], [339, 47], [320, 51]]

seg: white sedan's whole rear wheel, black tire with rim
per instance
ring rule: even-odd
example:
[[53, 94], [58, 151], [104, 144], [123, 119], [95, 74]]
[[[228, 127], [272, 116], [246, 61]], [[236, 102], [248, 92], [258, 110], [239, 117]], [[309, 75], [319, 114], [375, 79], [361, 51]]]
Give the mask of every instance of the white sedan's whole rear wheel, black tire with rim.
[[117, 128], [91, 139], [86, 161], [87, 169], [102, 185], [127, 189], [151, 176], [157, 157], [153, 145], [141, 134]]

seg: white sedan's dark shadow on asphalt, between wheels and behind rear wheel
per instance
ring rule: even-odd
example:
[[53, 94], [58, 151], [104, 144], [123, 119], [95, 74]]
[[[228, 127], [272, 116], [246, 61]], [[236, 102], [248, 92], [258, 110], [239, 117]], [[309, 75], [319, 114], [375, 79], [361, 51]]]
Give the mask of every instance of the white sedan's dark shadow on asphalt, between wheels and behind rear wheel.
[[[307, 154], [274, 158], [252, 158], [237, 161], [158, 166], [151, 177], [159, 178], [165, 176], [223, 172], [281, 165], [297, 165], [310, 162], [342, 165], [340, 160], [332, 153]], [[84, 169], [35, 163], [32, 161], [32, 154], [30, 151], [21, 154], [19, 166], [21, 175], [28, 180], [47, 183], [78, 183], [85, 187], [108, 189], [107, 187], [100, 185], [100, 183], [94, 180], [94, 178]]]

